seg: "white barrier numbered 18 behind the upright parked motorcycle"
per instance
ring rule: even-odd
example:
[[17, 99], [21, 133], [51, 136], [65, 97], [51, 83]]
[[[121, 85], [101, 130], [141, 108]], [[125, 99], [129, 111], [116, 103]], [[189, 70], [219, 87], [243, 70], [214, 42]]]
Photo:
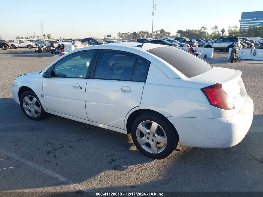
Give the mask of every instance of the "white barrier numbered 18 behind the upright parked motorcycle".
[[[228, 51], [228, 59], [232, 49]], [[263, 61], [263, 49], [240, 49], [237, 56], [239, 59], [252, 59]]]

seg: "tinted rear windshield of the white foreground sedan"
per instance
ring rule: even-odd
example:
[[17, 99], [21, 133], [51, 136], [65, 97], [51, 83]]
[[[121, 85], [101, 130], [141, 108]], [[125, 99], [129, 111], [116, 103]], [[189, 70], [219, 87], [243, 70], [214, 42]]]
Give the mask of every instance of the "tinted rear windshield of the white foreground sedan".
[[179, 70], [186, 77], [194, 77], [213, 68], [210, 64], [195, 55], [175, 47], [158, 47], [150, 49], [147, 52], [171, 64], [171, 66]]

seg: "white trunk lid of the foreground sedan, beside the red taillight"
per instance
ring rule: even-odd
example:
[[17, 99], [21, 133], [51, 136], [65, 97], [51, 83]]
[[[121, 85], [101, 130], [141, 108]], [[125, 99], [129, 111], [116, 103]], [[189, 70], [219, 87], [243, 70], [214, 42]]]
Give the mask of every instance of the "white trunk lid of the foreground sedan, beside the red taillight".
[[[246, 89], [241, 78], [242, 72], [228, 68], [213, 67], [205, 73], [192, 77], [193, 79], [205, 80], [211, 82], [211, 85], [222, 84], [223, 90], [228, 95], [230, 101], [234, 104], [233, 110], [223, 110], [223, 117], [236, 114], [244, 105]], [[218, 108], [219, 109], [219, 108]], [[220, 109], [222, 110], [222, 109]]]

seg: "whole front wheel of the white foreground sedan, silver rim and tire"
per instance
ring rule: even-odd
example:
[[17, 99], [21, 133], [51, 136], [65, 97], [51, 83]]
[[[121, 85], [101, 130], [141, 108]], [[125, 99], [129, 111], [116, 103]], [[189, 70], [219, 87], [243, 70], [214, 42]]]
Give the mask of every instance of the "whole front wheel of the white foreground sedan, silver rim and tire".
[[23, 113], [31, 120], [41, 120], [45, 115], [45, 110], [38, 97], [31, 90], [25, 91], [20, 96], [20, 107]]

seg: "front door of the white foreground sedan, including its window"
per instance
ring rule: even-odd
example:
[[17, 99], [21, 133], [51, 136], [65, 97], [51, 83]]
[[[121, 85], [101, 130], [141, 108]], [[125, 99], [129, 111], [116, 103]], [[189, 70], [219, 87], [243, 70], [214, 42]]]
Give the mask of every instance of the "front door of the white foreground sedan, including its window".
[[43, 97], [48, 110], [87, 120], [85, 91], [96, 50], [71, 54], [49, 70], [52, 77], [43, 79]]

